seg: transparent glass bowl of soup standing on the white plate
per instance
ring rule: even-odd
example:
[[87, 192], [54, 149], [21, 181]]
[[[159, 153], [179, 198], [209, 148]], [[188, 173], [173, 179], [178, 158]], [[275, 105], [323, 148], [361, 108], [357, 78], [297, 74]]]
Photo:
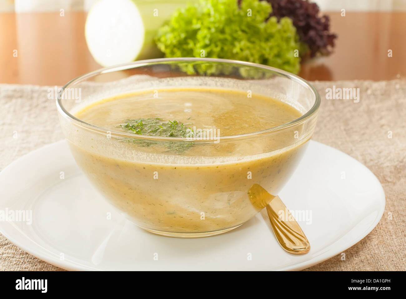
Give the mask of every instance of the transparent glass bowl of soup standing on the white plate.
[[[274, 128], [212, 140], [193, 140], [199, 151], [165, 151], [187, 138], [136, 135], [76, 118], [99, 100], [142, 90], [215, 88], [282, 100], [302, 115]], [[187, 99], [185, 99], [186, 101]], [[247, 98], [250, 100], [250, 98]], [[56, 101], [73, 157], [104, 197], [136, 225], [156, 234], [220, 234], [255, 216], [294, 172], [313, 134], [320, 96], [307, 81], [265, 65], [209, 58], [136, 61], [84, 74]], [[221, 104], [220, 104], [221, 105]], [[197, 147], [197, 146], [194, 146]], [[261, 190], [263, 190], [261, 188]]]

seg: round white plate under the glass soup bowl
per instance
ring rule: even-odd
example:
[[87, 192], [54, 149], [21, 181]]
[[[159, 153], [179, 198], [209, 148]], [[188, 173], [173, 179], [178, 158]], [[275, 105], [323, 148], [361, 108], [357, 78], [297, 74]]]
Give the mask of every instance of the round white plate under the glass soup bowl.
[[314, 141], [279, 195], [289, 209], [312, 212], [311, 224], [298, 221], [311, 244], [307, 254], [280, 247], [265, 211], [218, 236], [154, 235], [103, 200], [62, 140], [0, 173], [0, 210], [32, 210], [31, 225], [0, 221], [0, 231], [18, 247], [67, 270], [299, 270], [364, 238], [385, 206], [382, 186], [365, 166]]

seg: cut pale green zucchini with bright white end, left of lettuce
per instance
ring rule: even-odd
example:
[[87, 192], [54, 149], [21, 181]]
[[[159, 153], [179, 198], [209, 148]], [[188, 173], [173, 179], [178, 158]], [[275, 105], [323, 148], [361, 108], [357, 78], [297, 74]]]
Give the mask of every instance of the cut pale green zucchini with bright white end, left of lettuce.
[[103, 66], [162, 57], [153, 38], [173, 11], [186, 7], [189, 2], [99, 0], [87, 15], [87, 46], [97, 63]]

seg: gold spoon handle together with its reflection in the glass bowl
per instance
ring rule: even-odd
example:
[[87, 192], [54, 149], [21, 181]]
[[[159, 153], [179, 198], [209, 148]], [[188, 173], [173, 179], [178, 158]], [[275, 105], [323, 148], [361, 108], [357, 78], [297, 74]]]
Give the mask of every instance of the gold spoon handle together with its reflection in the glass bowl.
[[[287, 210], [279, 196], [269, 194], [258, 184], [251, 186], [248, 190], [251, 203], [259, 208], [266, 207], [272, 230], [282, 248], [289, 253], [303, 254], [310, 250], [310, 243], [304, 235], [302, 229]], [[285, 219], [279, 218], [279, 211], [288, 211]]]

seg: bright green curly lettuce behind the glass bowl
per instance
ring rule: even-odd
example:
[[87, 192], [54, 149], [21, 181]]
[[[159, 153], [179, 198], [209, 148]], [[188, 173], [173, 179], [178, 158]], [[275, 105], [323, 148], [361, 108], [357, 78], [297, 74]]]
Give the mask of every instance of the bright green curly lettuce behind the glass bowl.
[[301, 45], [296, 28], [288, 17], [266, 21], [271, 11], [266, 1], [243, 0], [239, 8], [236, 0], [200, 0], [175, 11], [155, 42], [166, 57], [235, 59], [297, 74], [295, 50]]

